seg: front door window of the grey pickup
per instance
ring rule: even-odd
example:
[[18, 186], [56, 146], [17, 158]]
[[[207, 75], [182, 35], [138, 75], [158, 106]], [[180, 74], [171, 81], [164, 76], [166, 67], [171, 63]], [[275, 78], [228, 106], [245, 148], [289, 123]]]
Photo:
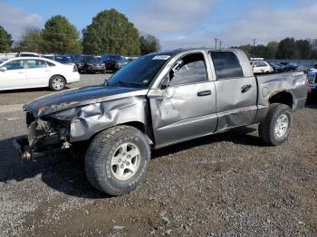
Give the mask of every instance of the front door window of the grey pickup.
[[[175, 68], [176, 67], [176, 68]], [[207, 71], [202, 53], [194, 53], [179, 60], [170, 71], [170, 85], [207, 81]]]

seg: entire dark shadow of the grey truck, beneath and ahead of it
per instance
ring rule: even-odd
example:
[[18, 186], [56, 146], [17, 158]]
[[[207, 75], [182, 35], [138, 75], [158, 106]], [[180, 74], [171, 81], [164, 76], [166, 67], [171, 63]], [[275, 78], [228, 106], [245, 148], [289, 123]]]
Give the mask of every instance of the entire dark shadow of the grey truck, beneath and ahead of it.
[[[161, 148], [153, 153], [153, 158], [174, 154], [191, 147], [207, 145], [213, 142], [230, 141], [245, 146], [264, 147], [264, 143], [254, 135], [255, 128], [235, 128], [233, 130], [187, 141], [171, 147]], [[12, 139], [0, 141], [0, 183], [11, 180], [24, 181], [41, 175], [43, 183], [63, 194], [84, 198], [109, 198], [95, 190], [88, 182], [84, 172], [84, 162], [70, 152], [56, 156], [44, 156], [34, 161], [22, 161], [12, 146]]]

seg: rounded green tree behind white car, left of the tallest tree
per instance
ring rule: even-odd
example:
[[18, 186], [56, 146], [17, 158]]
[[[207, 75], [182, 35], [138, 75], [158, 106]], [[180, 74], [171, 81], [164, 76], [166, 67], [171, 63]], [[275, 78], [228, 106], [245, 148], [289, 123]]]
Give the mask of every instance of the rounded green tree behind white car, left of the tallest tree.
[[54, 53], [82, 51], [79, 33], [66, 17], [55, 15], [45, 23], [43, 30], [43, 51]]

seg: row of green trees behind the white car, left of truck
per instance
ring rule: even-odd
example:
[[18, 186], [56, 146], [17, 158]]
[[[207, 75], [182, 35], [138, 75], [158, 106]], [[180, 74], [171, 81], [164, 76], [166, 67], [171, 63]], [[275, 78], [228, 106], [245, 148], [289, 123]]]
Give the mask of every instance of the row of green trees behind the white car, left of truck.
[[82, 30], [62, 15], [47, 20], [43, 29], [25, 29], [21, 40], [12, 47], [12, 36], [0, 25], [0, 52], [42, 53], [119, 53], [139, 56], [160, 49], [159, 40], [139, 30], [129, 19], [115, 9], [104, 10], [92, 18], [91, 24]]

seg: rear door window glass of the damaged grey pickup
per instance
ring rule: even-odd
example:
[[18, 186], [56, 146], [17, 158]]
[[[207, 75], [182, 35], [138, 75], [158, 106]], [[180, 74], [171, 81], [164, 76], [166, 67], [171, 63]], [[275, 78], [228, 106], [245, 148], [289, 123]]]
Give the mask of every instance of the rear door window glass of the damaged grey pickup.
[[234, 52], [210, 52], [217, 80], [244, 77], [241, 65]]

